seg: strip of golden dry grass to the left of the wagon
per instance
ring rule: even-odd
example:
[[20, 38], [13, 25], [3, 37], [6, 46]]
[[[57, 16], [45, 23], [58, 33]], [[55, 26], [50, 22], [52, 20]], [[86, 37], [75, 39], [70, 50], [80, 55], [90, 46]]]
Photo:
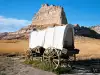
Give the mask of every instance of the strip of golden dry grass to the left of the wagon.
[[28, 40], [0, 40], [0, 53], [24, 53]]

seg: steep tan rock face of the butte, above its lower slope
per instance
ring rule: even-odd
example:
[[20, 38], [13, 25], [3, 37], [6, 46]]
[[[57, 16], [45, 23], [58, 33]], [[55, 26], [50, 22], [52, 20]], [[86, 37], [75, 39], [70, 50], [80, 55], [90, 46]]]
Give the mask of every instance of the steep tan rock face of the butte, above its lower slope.
[[35, 14], [32, 25], [67, 24], [65, 12], [62, 7], [43, 4]]

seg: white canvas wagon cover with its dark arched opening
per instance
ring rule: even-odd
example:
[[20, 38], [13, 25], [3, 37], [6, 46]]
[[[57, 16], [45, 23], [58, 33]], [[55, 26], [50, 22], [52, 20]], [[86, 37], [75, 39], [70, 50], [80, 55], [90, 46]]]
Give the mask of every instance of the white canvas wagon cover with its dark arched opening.
[[73, 26], [67, 24], [31, 32], [29, 48], [37, 46], [44, 48], [53, 47], [61, 50], [62, 48], [74, 48]]

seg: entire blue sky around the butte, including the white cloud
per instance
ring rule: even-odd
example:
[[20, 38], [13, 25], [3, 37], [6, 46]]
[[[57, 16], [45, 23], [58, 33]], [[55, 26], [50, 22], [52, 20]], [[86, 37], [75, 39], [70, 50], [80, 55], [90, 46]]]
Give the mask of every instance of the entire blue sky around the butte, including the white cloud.
[[16, 31], [31, 24], [44, 3], [62, 6], [68, 23], [100, 24], [100, 0], [0, 0], [0, 32]]

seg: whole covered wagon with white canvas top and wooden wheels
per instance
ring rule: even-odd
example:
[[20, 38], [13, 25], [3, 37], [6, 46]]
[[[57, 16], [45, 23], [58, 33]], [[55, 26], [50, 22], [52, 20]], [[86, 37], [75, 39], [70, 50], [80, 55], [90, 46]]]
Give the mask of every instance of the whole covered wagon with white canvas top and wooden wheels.
[[[29, 50], [38, 54], [43, 61], [50, 61], [57, 68], [62, 60], [68, 62], [79, 50], [74, 48], [74, 28], [71, 24], [48, 27], [31, 32]], [[35, 55], [36, 56], [36, 55]], [[34, 57], [34, 56], [33, 56]]]

